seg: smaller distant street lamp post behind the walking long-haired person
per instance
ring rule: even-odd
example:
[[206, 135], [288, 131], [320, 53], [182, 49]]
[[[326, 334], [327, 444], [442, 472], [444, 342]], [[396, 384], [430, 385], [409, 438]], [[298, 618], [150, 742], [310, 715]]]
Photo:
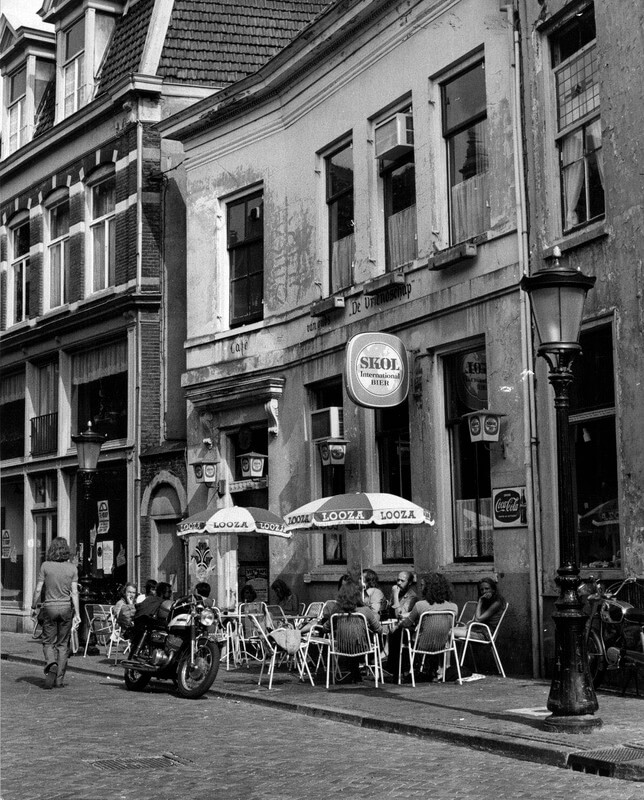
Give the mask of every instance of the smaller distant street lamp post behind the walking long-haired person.
[[[89, 532], [89, 502], [92, 497], [92, 485], [96, 476], [98, 457], [101, 452], [101, 446], [105, 441], [105, 436], [96, 433], [92, 428], [92, 423], [87, 423], [87, 430], [72, 436], [72, 441], [76, 444], [76, 454], [78, 456], [78, 475], [83, 484], [83, 518], [82, 529], [80, 535], [81, 544], [81, 558], [79, 561], [80, 568], [80, 612], [81, 612], [81, 639], [83, 642], [87, 641], [89, 636], [89, 629], [87, 623], [87, 614], [85, 613], [85, 606], [92, 601], [92, 561], [90, 551], [90, 532]], [[78, 526], [77, 537], [78, 537]], [[89, 652], [89, 650], [88, 650]], [[98, 649], [96, 649], [98, 652]]]

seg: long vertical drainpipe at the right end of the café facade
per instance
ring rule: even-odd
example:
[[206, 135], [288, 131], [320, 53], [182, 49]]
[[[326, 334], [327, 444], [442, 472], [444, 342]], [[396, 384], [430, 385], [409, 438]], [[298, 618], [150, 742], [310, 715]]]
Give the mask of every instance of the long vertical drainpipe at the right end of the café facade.
[[[507, 5], [503, 11], [508, 15], [509, 36], [513, 51], [514, 66], [514, 182], [516, 196], [516, 215], [519, 226], [519, 268], [522, 275], [529, 272], [530, 250], [528, 239], [528, 215], [525, 194], [525, 164], [523, 160], [523, 116], [522, 116], [522, 76], [521, 48], [519, 37], [519, 12], [517, 0]], [[523, 441], [526, 489], [530, 496], [528, 504], [528, 529], [532, 536], [528, 539], [530, 550], [530, 627], [532, 643], [532, 672], [535, 677], [543, 674], [543, 599], [541, 585], [541, 506], [539, 491], [538, 440], [536, 436], [536, 411], [534, 388], [534, 354], [532, 352], [532, 327], [530, 309], [525, 292], [519, 291], [521, 326], [521, 376], [523, 387]]]

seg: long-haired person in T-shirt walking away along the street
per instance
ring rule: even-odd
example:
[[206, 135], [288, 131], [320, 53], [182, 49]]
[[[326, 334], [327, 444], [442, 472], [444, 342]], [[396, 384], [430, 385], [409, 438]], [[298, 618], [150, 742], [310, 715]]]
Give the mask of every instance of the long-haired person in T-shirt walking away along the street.
[[35, 614], [44, 586], [42, 646], [45, 656], [45, 689], [64, 686], [72, 625], [80, 625], [78, 570], [70, 558], [67, 539], [62, 536], [52, 539], [46, 558], [40, 565], [31, 603], [31, 613]]

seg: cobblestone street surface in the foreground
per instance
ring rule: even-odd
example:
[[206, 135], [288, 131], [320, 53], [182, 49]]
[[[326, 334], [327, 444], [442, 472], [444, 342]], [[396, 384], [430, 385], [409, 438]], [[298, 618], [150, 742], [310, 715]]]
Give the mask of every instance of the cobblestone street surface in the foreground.
[[573, 791], [635, 800], [642, 792], [212, 695], [181, 700], [169, 685], [134, 694], [120, 680], [69, 673], [64, 689], [43, 691], [40, 668], [3, 662], [2, 697], [2, 800], [550, 800]]

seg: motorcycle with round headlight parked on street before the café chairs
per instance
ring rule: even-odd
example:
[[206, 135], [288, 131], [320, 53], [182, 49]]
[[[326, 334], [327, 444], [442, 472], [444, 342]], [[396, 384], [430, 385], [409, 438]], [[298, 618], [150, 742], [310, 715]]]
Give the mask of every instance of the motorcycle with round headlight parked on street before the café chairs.
[[167, 621], [146, 621], [142, 630], [135, 625], [133, 653], [121, 662], [127, 689], [140, 692], [158, 678], [173, 681], [181, 697], [205, 694], [219, 670], [219, 645], [209, 634], [214, 623], [213, 610], [190, 596], [174, 601]]

